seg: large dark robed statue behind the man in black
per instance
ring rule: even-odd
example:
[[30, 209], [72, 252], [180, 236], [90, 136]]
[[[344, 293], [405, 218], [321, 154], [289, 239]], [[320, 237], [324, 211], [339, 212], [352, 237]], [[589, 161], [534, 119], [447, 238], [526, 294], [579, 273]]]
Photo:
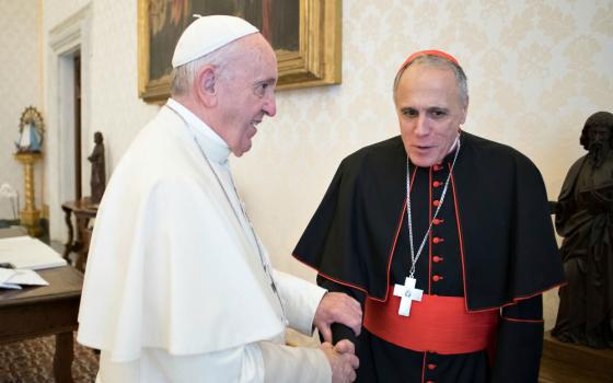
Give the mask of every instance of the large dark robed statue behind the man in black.
[[568, 285], [559, 289], [552, 335], [592, 348], [613, 347], [613, 114], [586, 121], [588, 150], [568, 171], [555, 207]]

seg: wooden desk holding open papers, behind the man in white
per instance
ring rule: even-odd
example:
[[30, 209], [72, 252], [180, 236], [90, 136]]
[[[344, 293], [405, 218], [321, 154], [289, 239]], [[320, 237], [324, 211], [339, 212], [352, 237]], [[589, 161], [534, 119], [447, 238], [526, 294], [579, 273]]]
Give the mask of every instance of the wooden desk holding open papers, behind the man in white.
[[78, 327], [83, 275], [71, 266], [38, 272], [49, 286], [0, 290], [0, 343], [55, 335], [55, 380], [73, 382], [72, 332]]

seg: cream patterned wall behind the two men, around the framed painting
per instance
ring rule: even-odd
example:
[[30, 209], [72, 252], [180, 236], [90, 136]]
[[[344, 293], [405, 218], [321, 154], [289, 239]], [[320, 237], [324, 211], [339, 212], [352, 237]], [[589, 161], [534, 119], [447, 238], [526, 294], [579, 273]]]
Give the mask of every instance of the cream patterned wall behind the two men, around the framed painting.
[[[45, 1], [45, 33], [88, 3]], [[157, 107], [137, 97], [136, 1], [90, 7], [84, 128], [104, 132], [112, 170]], [[578, 137], [586, 118], [613, 111], [611, 0], [345, 0], [343, 84], [279, 92], [277, 116], [262, 124], [254, 149], [232, 161], [252, 220], [279, 268], [312, 278], [290, 258], [293, 245], [340, 159], [396, 134], [394, 72], [409, 53], [429, 47], [452, 53], [469, 76], [465, 130], [524, 152], [541, 169], [552, 199], [582, 154]], [[92, 143], [84, 146], [90, 152]], [[547, 326], [556, 306], [548, 294]]]

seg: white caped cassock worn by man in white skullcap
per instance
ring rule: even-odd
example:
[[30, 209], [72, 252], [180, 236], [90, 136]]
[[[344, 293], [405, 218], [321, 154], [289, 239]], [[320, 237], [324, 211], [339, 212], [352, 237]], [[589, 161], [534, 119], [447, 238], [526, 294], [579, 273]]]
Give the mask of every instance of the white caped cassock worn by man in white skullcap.
[[321, 350], [284, 345], [286, 325], [312, 333], [325, 290], [274, 271], [284, 318], [229, 154], [170, 100], [114, 171], [95, 221], [77, 337], [102, 350], [99, 382], [331, 381]]

